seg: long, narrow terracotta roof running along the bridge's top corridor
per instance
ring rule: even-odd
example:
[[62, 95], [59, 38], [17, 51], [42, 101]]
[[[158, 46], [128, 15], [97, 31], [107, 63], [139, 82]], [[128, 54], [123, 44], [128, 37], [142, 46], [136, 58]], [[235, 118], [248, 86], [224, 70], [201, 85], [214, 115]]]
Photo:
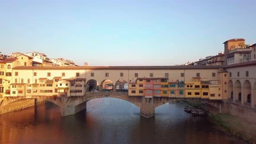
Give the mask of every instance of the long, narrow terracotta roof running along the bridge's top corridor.
[[221, 65], [180, 65], [180, 66], [16, 66], [13, 69], [31, 70], [99, 70], [99, 69], [219, 69]]

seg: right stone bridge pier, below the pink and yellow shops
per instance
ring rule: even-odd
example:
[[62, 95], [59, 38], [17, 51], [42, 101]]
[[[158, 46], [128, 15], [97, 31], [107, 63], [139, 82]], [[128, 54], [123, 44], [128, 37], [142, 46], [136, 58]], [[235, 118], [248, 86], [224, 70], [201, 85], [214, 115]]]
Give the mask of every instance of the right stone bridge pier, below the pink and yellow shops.
[[142, 103], [140, 106], [141, 109], [141, 115], [149, 118], [154, 116], [154, 102], [153, 98], [144, 98], [142, 99]]

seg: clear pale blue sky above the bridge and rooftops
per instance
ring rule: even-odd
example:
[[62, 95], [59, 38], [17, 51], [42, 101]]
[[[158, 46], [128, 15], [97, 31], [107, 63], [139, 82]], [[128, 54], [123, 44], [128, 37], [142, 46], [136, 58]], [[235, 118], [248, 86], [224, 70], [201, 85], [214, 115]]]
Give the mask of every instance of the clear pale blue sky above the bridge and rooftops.
[[[139, 2], [138, 2], [139, 1]], [[0, 52], [79, 65], [174, 65], [256, 43], [256, 0], [0, 0]]]

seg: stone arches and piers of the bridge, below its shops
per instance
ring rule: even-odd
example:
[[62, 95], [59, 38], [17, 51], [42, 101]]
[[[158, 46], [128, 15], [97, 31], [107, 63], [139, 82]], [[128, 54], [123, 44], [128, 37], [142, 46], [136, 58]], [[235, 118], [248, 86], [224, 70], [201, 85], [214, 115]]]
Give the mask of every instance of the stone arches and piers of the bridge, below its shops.
[[[140, 108], [140, 114], [144, 117], [151, 117], [155, 114], [155, 108], [170, 101], [184, 100], [191, 98], [163, 98], [153, 97], [144, 98], [143, 96], [128, 96], [127, 92], [87, 92], [85, 96], [70, 96], [70, 97], [56, 97], [56, 96], [18, 96], [18, 97], [5, 97], [0, 101], [0, 113], [5, 106], [23, 99], [41, 99], [52, 102], [60, 107], [62, 116], [73, 115], [79, 111], [86, 109], [86, 102], [94, 98], [119, 98], [129, 101]], [[200, 99], [201, 100], [201, 99]], [[209, 100], [201, 100], [209, 101]]]

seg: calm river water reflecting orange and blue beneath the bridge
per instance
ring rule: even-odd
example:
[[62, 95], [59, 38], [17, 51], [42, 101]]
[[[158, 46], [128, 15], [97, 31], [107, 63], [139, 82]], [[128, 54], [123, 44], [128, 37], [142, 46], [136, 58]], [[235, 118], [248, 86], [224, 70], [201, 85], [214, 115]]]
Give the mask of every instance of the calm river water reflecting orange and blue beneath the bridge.
[[86, 111], [60, 117], [58, 106], [41, 103], [0, 115], [0, 144], [246, 144], [184, 107], [168, 103], [144, 118], [127, 101], [97, 98]]

